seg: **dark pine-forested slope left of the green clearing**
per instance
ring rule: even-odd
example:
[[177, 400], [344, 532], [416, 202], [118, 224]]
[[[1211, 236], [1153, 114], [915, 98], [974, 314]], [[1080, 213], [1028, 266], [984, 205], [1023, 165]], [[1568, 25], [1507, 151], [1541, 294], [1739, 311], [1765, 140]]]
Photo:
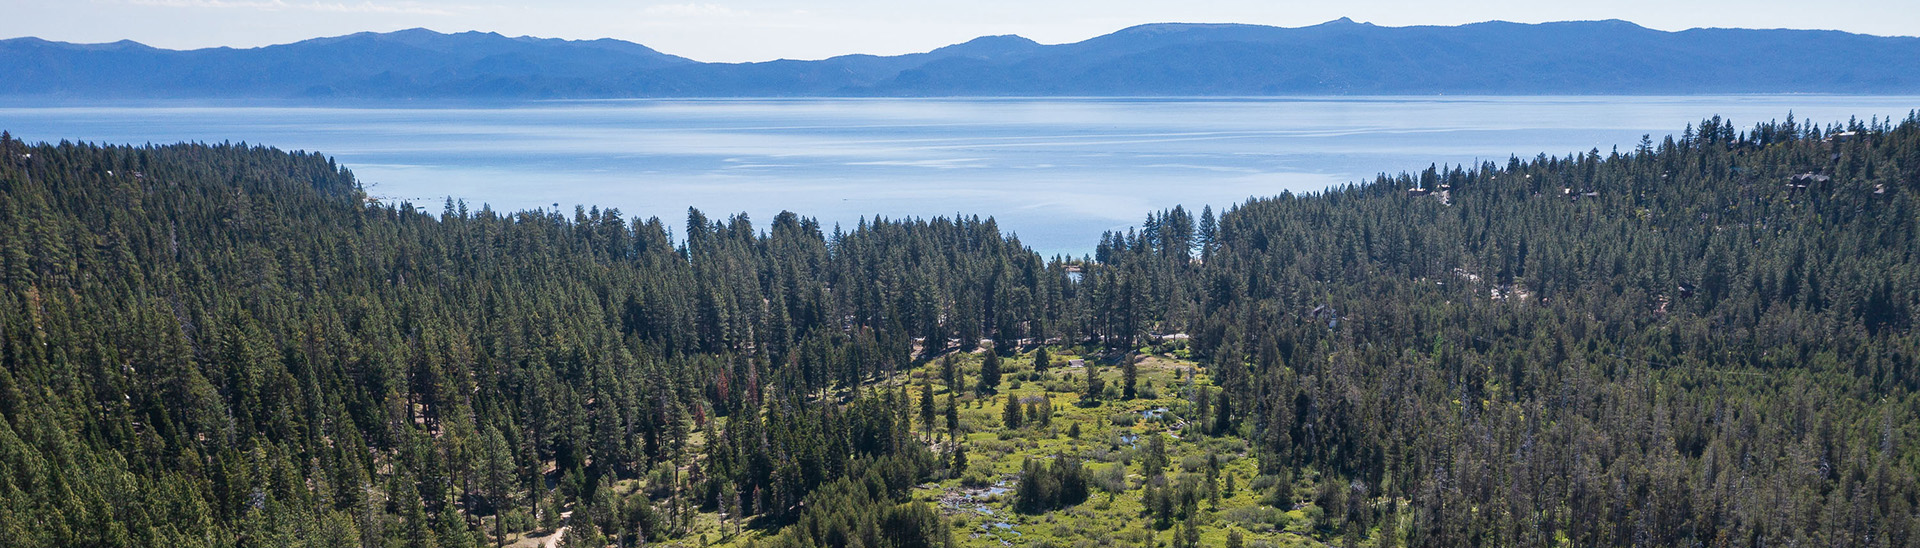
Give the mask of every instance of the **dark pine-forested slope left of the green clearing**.
[[[1071, 296], [979, 219], [693, 213], [676, 246], [618, 212], [369, 204], [313, 154], [0, 148], [0, 535], [23, 544], [476, 546], [480, 515], [570, 508], [632, 546], [716, 504], [674, 477], [689, 436], [762, 411], [743, 452], [781, 469], [730, 492], [785, 519], [902, 450], [891, 413], [808, 394], [925, 329], [1064, 323]], [[603, 488], [649, 473], [659, 504]]]

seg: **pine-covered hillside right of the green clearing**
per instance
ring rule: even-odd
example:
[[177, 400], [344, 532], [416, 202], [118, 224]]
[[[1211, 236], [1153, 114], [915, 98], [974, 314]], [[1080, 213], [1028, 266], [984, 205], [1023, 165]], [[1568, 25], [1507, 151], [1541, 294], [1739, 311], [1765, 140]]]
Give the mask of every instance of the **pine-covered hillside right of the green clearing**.
[[1342, 536], [1910, 546], [1916, 198], [1920, 119], [1711, 119], [1254, 200], [1202, 267], [1165, 229], [1110, 254], [1175, 281], [1150, 310], [1194, 308], [1261, 467], [1334, 475]]

